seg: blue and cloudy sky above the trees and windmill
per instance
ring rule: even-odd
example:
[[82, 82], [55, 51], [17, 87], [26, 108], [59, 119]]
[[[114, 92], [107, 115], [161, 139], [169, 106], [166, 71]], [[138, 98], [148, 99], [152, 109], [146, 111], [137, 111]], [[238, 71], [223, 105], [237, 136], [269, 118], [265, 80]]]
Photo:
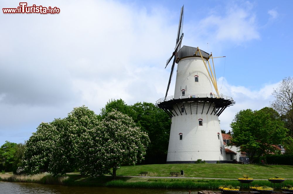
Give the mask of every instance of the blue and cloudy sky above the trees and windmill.
[[[0, 1], [0, 145], [23, 143], [41, 122], [86, 105], [96, 114], [109, 99], [156, 103], [166, 93], [184, 4], [182, 46], [213, 56], [220, 93], [259, 110], [293, 76], [293, 1], [25, 1], [59, 14], [4, 14], [20, 1]], [[177, 66], [176, 66], [177, 68]], [[173, 77], [168, 96], [174, 95]]]

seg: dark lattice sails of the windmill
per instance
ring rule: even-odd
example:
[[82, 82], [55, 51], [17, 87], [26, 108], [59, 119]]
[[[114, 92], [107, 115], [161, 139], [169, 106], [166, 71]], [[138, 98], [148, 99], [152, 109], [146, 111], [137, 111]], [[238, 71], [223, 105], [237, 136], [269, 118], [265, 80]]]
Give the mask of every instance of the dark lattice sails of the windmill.
[[[167, 65], [170, 63], [170, 61], [174, 57], [165, 98], [168, 95], [168, 90], [169, 90], [171, 79], [172, 79], [173, 72], [174, 72], [175, 61], [176, 61], [178, 52], [179, 52], [180, 47], [181, 47], [181, 42], [182, 42], [182, 38], [183, 38], [183, 33], [182, 33], [183, 32], [183, 17], [184, 17], [184, 5], [181, 7], [181, 11], [180, 11], [180, 18], [179, 18], [179, 26], [178, 26], [178, 33], [177, 33], [177, 39], [176, 39], [176, 46], [175, 46], [175, 49], [174, 49], [174, 52], [173, 52], [172, 56], [166, 62], [166, 67], [167, 67]], [[166, 67], [165, 67], [165, 69], [166, 69]]]

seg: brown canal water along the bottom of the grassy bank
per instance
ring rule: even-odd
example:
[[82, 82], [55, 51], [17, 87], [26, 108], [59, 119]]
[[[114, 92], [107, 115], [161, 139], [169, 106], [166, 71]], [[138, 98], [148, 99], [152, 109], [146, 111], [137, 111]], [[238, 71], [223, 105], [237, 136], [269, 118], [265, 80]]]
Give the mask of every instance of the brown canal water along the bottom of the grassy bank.
[[[0, 181], [0, 194], [188, 194], [186, 190], [166, 189], [134, 189], [134, 188], [108, 188], [108, 187], [80, 187], [64, 185], [48, 185], [38, 183], [14, 183]], [[195, 194], [197, 191], [191, 190]]]

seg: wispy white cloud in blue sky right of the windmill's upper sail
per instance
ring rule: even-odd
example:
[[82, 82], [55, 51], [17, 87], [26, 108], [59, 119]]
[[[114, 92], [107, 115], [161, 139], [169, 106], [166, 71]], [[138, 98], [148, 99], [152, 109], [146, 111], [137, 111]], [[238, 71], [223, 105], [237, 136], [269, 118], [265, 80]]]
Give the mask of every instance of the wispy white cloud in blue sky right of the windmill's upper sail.
[[249, 3], [241, 6], [231, 3], [225, 8], [224, 14], [222, 10], [221, 13], [212, 11], [209, 16], [200, 19], [198, 24], [195, 24], [194, 21], [192, 24], [188, 24], [191, 26], [187, 26], [187, 28], [193, 36], [193, 38], [188, 38], [196, 39], [197, 45], [200, 42], [202, 46], [206, 46], [207, 41], [213, 44], [218, 43], [216, 47], [222, 47], [223, 42], [225, 45], [227, 43], [240, 45], [246, 41], [257, 40], [260, 38], [260, 34], [252, 8], [253, 6]]

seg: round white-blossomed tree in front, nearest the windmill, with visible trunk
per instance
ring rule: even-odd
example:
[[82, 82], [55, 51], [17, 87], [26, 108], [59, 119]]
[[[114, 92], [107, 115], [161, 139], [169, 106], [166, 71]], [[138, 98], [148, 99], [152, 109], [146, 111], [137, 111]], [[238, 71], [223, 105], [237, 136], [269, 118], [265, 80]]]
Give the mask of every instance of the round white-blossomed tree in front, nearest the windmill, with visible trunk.
[[113, 177], [123, 164], [136, 164], [146, 153], [149, 137], [132, 118], [118, 111], [106, 113], [99, 126], [81, 135], [80, 169], [92, 177], [110, 172]]

